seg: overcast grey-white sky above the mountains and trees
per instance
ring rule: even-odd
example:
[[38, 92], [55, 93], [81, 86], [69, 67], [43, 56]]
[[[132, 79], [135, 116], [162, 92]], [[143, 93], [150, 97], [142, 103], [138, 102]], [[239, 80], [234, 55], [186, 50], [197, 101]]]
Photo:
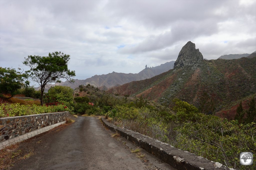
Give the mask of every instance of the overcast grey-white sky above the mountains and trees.
[[76, 79], [138, 73], [176, 60], [188, 41], [207, 59], [252, 53], [256, 1], [0, 0], [1, 67], [61, 51]]

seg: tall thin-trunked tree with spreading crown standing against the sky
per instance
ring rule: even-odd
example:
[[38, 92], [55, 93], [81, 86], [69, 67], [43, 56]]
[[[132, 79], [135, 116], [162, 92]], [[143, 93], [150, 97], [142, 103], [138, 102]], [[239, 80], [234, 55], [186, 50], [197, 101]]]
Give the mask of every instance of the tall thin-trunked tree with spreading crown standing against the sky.
[[30, 68], [30, 78], [37, 82], [41, 88], [41, 105], [43, 105], [43, 93], [45, 86], [50, 83], [60, 82], [62, 79], [74, 82], [71, 77], [76, 76], [75, 71], [68, 69], [70, 55], [61, 52], [49, 53], [48, 56], [28, 56], [23, 64]]

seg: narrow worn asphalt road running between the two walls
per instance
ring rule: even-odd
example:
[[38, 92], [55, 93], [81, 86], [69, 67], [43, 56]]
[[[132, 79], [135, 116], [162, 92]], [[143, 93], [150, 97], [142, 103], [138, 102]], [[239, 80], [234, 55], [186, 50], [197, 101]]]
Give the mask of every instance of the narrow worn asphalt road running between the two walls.
[[63, 129], [31, 139], [28, 146], [37, 145], [39, 150], [11, 169], [174, 169], [144, 150], [143, 159], [137, 158], [129, 149], [136, 146], [125, 138], [111, 137], [111, 132], [97, 117], [79, 116]]

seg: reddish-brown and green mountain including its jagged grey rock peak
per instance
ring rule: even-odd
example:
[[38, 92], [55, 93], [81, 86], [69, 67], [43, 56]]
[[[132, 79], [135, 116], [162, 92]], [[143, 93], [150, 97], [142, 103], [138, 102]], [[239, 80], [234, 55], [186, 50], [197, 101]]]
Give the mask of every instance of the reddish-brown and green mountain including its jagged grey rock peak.
[[203, 60], [195, 44], [188, 42], [180, 51], [174, 69], [112, 87], [107, 92], [143, 96], [166, 106], [172, 106], [172, 99], [179, 98], [204, 108], [202, 112], [212, 113], [256, 94], [256, 57], [252, 57], [255, 54], [237, 60]]

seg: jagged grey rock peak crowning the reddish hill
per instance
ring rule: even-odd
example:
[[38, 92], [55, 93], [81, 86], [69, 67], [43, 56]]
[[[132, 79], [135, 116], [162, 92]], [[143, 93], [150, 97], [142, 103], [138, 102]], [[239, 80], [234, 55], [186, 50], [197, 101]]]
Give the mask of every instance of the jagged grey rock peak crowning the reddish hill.
[[203, 59], [203, 55], [200, 53], [199, 49], [196, 49], [196, 45], [189, 41], [180, 50], [178, 58], [174, 63], [174, 68], [193, 66]]

